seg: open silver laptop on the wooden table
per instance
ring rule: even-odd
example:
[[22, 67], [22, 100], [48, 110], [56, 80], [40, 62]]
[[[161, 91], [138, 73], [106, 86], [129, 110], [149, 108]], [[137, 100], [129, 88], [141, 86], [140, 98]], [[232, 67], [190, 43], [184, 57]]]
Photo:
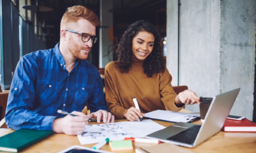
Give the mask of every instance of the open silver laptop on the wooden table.
[[190, 148], [199, 145], [221, 130], [239, 91], [240, 88], [214, 97], [202, 125], [179, 122], [151, 133], [146, 138]]

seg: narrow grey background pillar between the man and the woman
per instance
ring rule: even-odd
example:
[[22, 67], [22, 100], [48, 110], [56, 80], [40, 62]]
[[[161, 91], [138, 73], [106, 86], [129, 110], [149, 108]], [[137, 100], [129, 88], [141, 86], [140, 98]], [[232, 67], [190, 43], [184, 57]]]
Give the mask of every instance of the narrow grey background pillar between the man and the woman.
[[113, 61], [113, 0], [100, 1], [100, 51], [99, 67]]

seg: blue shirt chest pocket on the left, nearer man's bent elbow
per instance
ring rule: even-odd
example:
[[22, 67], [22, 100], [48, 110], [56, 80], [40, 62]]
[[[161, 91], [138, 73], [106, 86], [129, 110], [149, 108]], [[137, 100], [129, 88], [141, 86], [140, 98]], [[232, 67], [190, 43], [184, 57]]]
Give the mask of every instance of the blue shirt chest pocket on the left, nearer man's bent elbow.
[[58, 85], [43, 84], [36, 88], [36, 100], [42, 107], [49, 106], [57, 102]]

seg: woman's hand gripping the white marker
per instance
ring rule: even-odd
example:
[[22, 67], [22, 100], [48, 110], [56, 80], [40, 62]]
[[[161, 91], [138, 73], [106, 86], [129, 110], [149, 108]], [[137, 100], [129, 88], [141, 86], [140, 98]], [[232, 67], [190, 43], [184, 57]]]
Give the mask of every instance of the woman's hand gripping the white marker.
[[140, 117], [143, 118], [143, 116], [145, 116], [145, 114], [140, 113], [140, 111], [135, 107], [126, 109], [124, 112], [124, 117], [129, 121], [140, 121]]

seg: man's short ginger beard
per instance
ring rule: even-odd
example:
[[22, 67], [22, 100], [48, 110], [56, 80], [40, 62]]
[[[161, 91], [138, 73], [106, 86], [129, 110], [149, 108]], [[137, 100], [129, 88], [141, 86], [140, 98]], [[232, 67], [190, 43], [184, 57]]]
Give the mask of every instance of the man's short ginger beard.
[[[68, 40], [69, 40], [68, 50], [75, 58], [78, 58], [78, 59], [88, 58], [88, 54], [91, 50], [91, 47], [79, 47], [71, 37], [69, 37]], [[89, 50], [89, 52], [85, 50]]]

